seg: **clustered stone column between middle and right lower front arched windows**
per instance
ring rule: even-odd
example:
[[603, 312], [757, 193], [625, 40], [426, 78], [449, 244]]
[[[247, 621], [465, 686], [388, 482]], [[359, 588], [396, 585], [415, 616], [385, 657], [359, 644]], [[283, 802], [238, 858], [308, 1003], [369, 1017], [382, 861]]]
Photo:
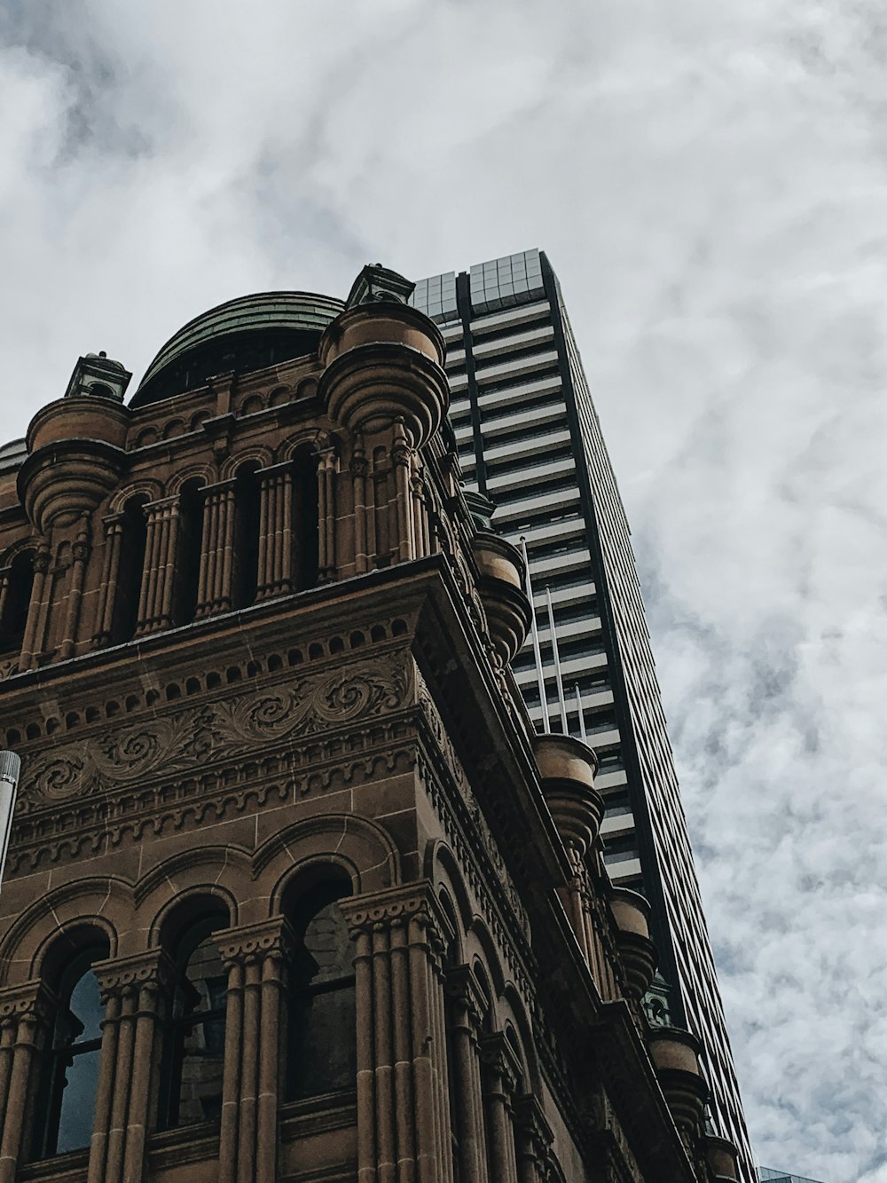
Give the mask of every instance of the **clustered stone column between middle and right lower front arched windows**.
[[228, 969], [220, 1183], [274, 1183], [283, 993], [294, 942], [283, 917], [220, 933]]

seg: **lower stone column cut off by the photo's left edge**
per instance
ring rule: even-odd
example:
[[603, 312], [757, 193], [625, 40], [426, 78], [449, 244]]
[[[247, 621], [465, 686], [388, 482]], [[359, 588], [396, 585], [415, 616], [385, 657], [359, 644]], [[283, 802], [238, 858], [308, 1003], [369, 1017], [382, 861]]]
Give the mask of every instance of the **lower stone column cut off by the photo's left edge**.
[[39, 1056], [57, 1006], [40, 981], [0, 991], [0, 1183], [14, 1183], [33, 1138]]

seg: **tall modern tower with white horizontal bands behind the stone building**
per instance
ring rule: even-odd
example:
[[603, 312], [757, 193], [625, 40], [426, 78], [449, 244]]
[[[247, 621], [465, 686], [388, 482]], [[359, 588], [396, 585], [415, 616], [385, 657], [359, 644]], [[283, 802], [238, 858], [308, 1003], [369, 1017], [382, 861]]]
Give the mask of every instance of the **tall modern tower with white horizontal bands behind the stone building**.
[[468, 487], [525, 548], [536, 627], [512, 668], [537, 729], [587, 738], [613, 881], [653, 906], [650, 1017], [703, 1041], [716, 1131], [752, 1155], [649, 646], [630, 532], [557, 277], [539, 251], [420, 280], [447, 342]]

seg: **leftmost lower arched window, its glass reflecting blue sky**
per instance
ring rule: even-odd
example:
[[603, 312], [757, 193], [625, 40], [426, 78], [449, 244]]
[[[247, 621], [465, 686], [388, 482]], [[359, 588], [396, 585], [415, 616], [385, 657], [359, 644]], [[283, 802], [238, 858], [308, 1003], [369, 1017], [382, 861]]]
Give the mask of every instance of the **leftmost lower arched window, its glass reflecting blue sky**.
[[59, 1008], [45, 1054], [37, 1106], [35, 1155], [89, 1146], [98, 1085], [104, 1008], [92, 965], [108, 956], [93, 944], [56, 976]]

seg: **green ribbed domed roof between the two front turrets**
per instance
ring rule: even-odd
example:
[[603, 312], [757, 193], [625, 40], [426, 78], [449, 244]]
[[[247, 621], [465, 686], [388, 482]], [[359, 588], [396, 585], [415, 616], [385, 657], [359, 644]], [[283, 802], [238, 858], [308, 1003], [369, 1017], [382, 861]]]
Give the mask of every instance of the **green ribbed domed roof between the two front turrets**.
[[189, 321], [148, 367], [132, 407], [202, 386], [214, 374], [248, 373], [312, 354], [343, 300], [313, 292], [259, 292]]

